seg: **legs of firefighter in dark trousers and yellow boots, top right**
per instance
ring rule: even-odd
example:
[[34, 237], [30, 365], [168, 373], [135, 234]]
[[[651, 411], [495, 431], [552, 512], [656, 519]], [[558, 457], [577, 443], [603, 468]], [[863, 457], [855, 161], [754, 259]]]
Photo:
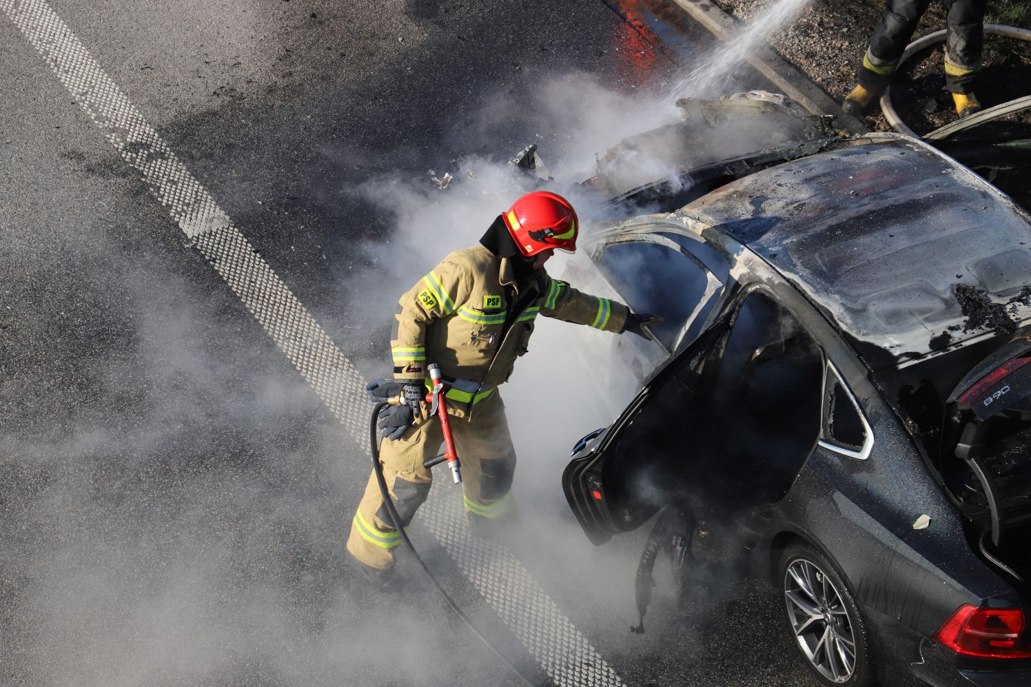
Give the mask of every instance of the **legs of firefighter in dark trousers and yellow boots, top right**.
[[[945, 86], [953, 94], [956, 112], [969, 117], [980, 111], [972, 84], [980, 71], [985, 8], [988, 0], [943, 0], [947, 11], [945, 40]], [[859, 83], [845, 96], [843, 108], [850, 114], [869, 111], [880, 98], [898, 68], [917, 23], [931, 0], [888, 0], [880, 25], [859, 68]]]

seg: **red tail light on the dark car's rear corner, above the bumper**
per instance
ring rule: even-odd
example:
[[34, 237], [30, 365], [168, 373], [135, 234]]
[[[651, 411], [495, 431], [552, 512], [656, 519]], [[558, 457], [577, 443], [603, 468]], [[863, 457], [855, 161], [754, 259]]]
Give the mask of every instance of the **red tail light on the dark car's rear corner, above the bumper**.
[[958, 654], [977, 658], [1031, 658], [1021, 644], [1021, 609], [978, 609], [965, 603], [945, 621], [935, 639]]

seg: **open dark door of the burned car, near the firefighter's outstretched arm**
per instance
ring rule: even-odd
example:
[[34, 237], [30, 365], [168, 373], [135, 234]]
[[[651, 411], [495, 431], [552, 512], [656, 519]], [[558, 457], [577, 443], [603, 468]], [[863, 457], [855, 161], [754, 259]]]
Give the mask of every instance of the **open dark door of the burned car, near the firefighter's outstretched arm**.
[[727, 305], [606, 430], [586, 437], [563, 489], [603, 544], [663, 505], [779, 501], [821, 436], [824, 356], [765, 290]]

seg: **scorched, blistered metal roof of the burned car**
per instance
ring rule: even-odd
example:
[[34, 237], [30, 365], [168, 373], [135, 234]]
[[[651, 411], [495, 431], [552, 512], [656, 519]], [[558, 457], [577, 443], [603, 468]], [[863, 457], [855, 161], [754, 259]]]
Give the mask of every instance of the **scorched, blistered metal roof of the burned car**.
[[967, 329], [957, 285], [988, 294], [1013, 321], [1031, 317], [1031, 218], [913, 138], [858, 137], [728, 184], [678, 214], [761, 256], [875, 370], [989, 331]]

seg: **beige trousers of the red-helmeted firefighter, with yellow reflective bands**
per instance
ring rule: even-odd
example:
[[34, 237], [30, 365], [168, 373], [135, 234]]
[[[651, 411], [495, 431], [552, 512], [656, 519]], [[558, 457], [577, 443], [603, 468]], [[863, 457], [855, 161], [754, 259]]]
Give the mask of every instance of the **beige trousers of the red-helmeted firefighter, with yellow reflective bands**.
[[[478, 403], [471, 421], [454, 416], [450, 420], [462, 463], [465, 509], [485, 518], [511, 515], [514, 512], [511, 485], [516, 452], [500, 395], [495, 392]], [[423, 467], [423, 461], [441, 453], [442, 441], [440, 421], [436, 417], [424, 417], [396, 441], [385, 438], [379, 443], [379, 461], [387, 488], [405, 527], [430, 493], [433, 478], [430, 470]], [[451, 470], [446, 463], [440, 463], [436, 469], [440, 471], [440, 479], [450, 484]], [[455, 493], [454, 497], [459, 496]], [[401, 535], [394, 529], [384, 505], [376, 476], [370, 475], [365, 496], [351, 523], [347, 551], [366, 565], [387, 568], [394, 565], [394, 553], [401, 544]]]

